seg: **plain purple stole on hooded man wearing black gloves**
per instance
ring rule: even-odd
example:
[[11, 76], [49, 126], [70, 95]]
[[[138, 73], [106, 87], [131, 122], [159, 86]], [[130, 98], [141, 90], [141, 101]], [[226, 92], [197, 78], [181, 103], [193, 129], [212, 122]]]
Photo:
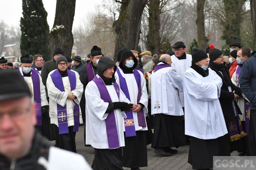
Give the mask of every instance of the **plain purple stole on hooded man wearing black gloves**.
[[[95, 82], [95, 84], [97, 85], [97, 87], [99, 89], [100, 98], [104, 102], [112, 102], [109, 92], [108, 92], [108, 89], [106, 88], [106, 85], [104, 84], [103, 80], [101, 78], [98, 78], [95, 76], [93, 81]], [[116, 90], [117, 97], [119, 99], [119, 95], [120, 95], [119, 86], [116, 82], [113, 85]], [[114, 111], [109, 113], [109, 115], [105, 119], [105, 123], [106, 123], [106, 133], [107, 133], [107, 137], [108, 137], [109, 149], [119, 148], [120, 145], [119, 145]]]

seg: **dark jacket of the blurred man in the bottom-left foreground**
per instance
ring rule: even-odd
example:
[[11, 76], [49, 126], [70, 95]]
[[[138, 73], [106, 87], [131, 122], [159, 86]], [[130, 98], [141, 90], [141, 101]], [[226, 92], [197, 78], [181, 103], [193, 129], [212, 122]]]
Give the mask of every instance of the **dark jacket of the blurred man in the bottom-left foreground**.
[[38, 164], [38, 158], [43, 156], [46, 160], [48, 160], [50, 146], [51, 144], [40, 137], [39, 133], [36, 132], [32, 142], [32, 147], [30, 148], [29, 152], [22, 158], [19, 158], [12, 163], [9, 158], [0, 154], [0, 169], [9, 170], [11, 164], [15, 164], [15, 170], [45, 170], [42, 165]]

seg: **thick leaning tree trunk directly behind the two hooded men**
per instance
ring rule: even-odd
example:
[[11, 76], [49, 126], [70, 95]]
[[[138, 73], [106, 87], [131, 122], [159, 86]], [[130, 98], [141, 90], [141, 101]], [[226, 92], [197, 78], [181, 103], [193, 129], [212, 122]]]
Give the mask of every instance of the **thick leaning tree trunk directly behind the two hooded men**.
[[119, 18], [113, 23], [115, 53], [123, 47], [137, 50], [140, 39], [141, 16], [147, 0], [122, 0]]

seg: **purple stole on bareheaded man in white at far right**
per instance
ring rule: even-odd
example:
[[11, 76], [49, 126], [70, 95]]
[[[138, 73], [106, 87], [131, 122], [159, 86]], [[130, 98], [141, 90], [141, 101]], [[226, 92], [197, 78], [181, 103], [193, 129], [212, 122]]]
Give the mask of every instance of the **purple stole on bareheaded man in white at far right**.
[[[237, 87], [240, 87], [239, 80], [240, 80], [241, 70], [242, 70], [242, 67], [238, 66], [237, 70], [236, 70]], [[244, 99], [244, 114], [246, 114], [245, 115], [245, 130], [246, 130], [247, 136], [249, 136], [250, 102], [248, 102], [246, 99]]]

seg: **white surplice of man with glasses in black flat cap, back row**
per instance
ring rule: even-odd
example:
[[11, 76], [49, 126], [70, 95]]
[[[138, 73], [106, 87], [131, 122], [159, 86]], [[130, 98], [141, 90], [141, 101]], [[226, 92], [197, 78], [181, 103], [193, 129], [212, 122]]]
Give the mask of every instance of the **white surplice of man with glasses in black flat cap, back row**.
[[[179, 60], [175, 55], [171, 56], [172, 59], [172, 67], [177, 71], [177, 73], [183, 79], [185, 71], [190, 68], [192, 56], [190, 54], [186, 54], [186, 59]], [[180, 92], [180, 100], [181, 105], [184, 107], [184, 94]]]

